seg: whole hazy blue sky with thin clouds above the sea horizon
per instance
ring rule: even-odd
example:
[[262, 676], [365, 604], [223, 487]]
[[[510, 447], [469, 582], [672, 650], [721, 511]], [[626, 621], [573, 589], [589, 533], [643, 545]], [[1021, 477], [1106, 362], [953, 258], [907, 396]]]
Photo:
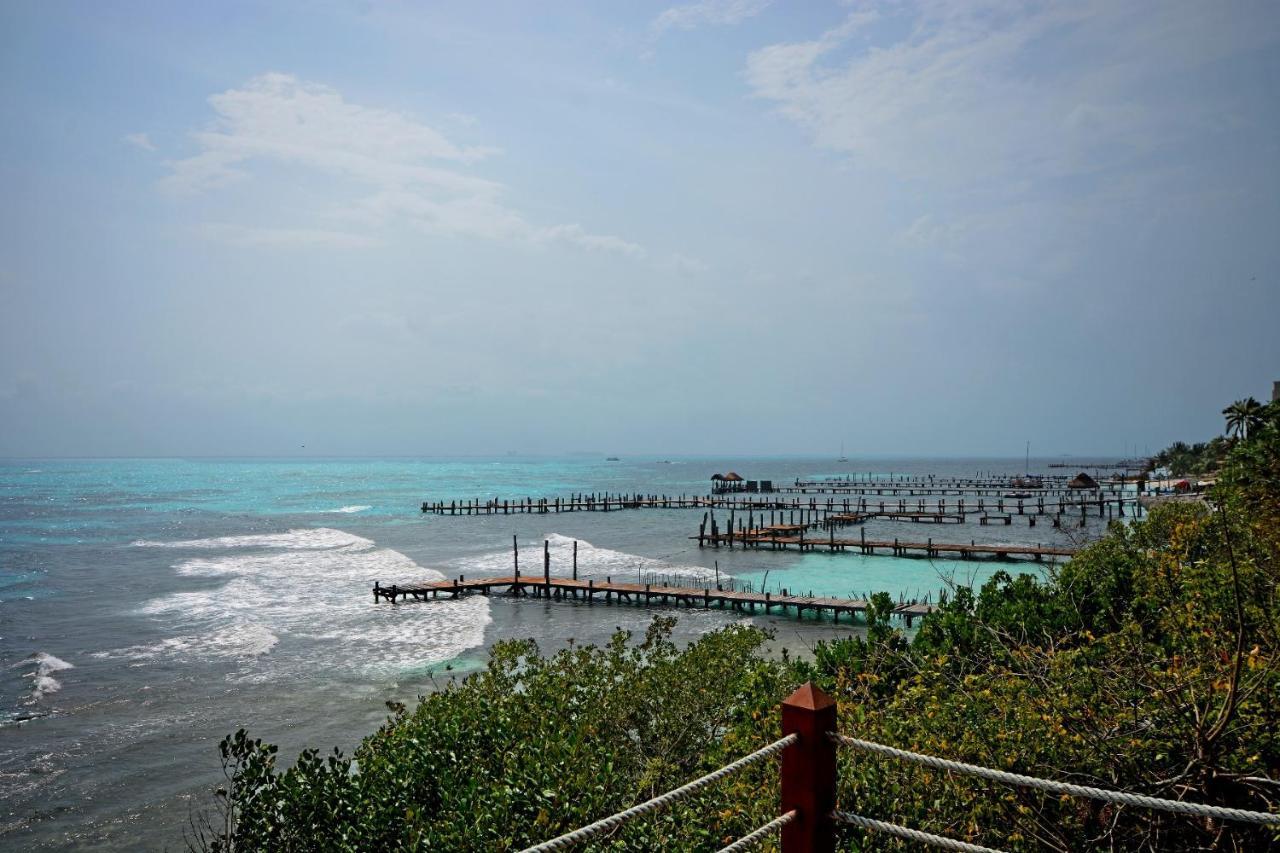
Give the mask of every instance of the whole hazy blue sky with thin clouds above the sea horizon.
[[1277, 92], [1274, 1], [4, 3], [0, 455], [1207, 438]]

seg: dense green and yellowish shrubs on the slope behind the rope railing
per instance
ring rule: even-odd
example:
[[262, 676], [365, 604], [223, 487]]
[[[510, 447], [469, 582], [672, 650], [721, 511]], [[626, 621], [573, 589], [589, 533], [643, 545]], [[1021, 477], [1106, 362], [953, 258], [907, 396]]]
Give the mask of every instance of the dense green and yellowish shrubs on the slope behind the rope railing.
[[[604, 648], [500, 643], [486, 670], [397, 710], [348, 760], [288, 770], [243, 733], [196, 847], [215, 850], [518, 849], [777, 736], [813, 679], [859, 736], [1039, 776], [1275, 811], [1280, 798], [1280, 425], [1275, 406], [1222, 457], [1203, 505], [1116, 524], [1047, 580], [961, 588], [914, 637], [888, 622], [768, 660], [730, 626], [685, 649], [669, 621]], [[1240, 849], [1280, 834], [841, 760], [840, 802], [1004, 849]], [[714, 849], [776, 813], [763, 762], [595, 849]], [[849, 830], [847, 849], [899, 849]], [[774, 844], [769, 841], [768, 844]], [[768, 847], [767, 847], [768, 849]]]

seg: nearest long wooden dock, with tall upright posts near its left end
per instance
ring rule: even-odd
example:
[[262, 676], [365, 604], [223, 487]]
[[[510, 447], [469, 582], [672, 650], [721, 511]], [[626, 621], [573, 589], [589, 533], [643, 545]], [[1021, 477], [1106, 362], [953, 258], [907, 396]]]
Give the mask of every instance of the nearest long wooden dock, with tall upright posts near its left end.
[[[509, 575], [504, 578], [474, 578], [458, 576], [454, 580], [438, 580], [416, 587], [383, 587], [374, 584], [374, 601], [430, 601], [445, 596], [458, 598], [466, 594], [489, 596], [495, 590], [506, 590], [512, 596], [532, 596], [548, 599], [576, 599], [586, 603], [603, 601], [607, 605], [632, 603], [632, 605], [666, 605], [684, 607], [701, 607], [709, 610], [735, 610], [755, 612], [756, 608], [765, 613], [777, 610], [783, 615], [794, 615], [803, 619], [805, 611], [815, 615], [829, 613], [833, 621], [840, 621], [841, 613], [854, 616], [865, 612], [868, 602], [856, 598], [828, 598], [823, 596], [792, 596], [786, 589], [781, 594], [756, 593], [721, 589], [719, 587], [669, 587], [667, 584], [626, 584], [613, 583], [609, 578], [604, 583], [596, 580], [576, 580], [572, 578], [553, 578], [550, 575]], [[933, 611], [933, 605], [910, 602], [893, 608], [893, 615], [906, 621], [925, 616]]]

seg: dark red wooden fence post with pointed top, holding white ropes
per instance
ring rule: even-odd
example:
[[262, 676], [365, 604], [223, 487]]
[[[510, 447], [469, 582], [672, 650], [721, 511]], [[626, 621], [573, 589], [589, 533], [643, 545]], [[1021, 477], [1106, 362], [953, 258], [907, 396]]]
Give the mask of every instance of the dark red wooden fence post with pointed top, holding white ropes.
[[782, 813], [796, 820], [782, 827], [782, 853], [836, 849], [836, 701], [812, 681], [782, 701], [782, 734], [800, 740], [782, 752]]

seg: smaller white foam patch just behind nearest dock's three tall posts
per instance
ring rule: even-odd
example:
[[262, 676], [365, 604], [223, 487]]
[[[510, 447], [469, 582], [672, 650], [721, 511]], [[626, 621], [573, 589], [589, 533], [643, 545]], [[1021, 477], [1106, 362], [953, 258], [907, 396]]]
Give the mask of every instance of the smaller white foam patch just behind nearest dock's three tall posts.
[[[552, 574], [567, 576], [573, 566], [573, 538], [552, 533], [545, 537], [550, 543]], [[541, 542], [521, 543], [520, 565], [522, 574], [540, 575], [543, 573], [543, 547]], [[527, 549], [526, 549], [527, 548]], [[512, 570], [511, 549], [493, 551], [474, 557], [465, 557], [454, 562], [460, 574], [467, 576], [481, 575], [509, 575]], [[714, 569], [705, 566], [691, 566], [672, 562], [668, 558], [641, 557], [625, 551], [612, 551], [599, 548], [584, 539], [577, 540], [577, 575], [579, 578], [614, 578], [616, 580], [634, 580], [636, 574], [641, 578], [646, 575], [671, 576], [686, 579], [690, 583], [701, 583], [716, 576]], [[730, 575], [721, 571], [721, 578]]]

